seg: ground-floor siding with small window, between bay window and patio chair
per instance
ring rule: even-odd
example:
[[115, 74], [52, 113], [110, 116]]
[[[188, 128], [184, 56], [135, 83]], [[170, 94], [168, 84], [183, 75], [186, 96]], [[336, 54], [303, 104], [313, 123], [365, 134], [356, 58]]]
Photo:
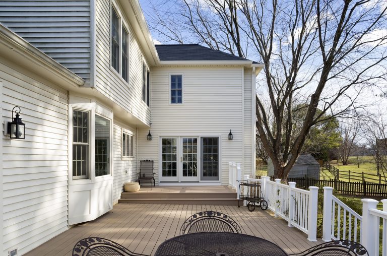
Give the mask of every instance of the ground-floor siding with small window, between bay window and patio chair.
[[[134, 157], [122, 157], [122, 129], [134, 134]], [[137, 179], [137, 135], [136, 129], [124, 125], [122, 122], [114, 121], [113, 125], [113, 204], [118, 203], [125, 182]], [[127, 173], [126, 173], [127, 171]]]

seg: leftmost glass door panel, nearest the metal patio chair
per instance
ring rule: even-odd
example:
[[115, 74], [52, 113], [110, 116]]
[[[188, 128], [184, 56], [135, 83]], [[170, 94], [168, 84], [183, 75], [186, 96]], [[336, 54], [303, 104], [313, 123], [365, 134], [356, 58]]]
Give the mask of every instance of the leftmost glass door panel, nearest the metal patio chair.
[[162, 179], [177, 180], [177, 139], [161, 139]]

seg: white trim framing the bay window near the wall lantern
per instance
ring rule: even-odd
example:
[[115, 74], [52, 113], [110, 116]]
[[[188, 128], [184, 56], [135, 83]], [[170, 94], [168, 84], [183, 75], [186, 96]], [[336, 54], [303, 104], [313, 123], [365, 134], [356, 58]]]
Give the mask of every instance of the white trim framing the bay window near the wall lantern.
[[[76, 98], [72, 94], [70, 96], [69, 104], [69, 184], [90, 184], [95, 181], [102, 181], [113, 178], [113, 111], [106, 108], [104, 105], [99, 104], [95, 100], [89, 99], [87, 103], [71, 103]], [[85, 98], [83, 98], [85, 99]], [[90, 176], [88, 179], [73, 179], [73, 110], [88, 111], [89, 117], [89, 171]], [[95, 115], [102, 116], [110, 121], [110, 160], [109, 168], [110, 173], [102, 176], [95, 176], [95, 129], [93, 123], [95, 123]]]

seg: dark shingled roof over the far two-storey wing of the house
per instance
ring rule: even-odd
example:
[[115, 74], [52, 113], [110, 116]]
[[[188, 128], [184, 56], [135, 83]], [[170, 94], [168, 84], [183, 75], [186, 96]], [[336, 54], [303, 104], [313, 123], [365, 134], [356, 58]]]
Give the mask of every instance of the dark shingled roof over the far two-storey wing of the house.
[[[160, 60], [249, 60], [199, 44], [156, 44]], [[253, 61], [253, 63], [257, 63]]]

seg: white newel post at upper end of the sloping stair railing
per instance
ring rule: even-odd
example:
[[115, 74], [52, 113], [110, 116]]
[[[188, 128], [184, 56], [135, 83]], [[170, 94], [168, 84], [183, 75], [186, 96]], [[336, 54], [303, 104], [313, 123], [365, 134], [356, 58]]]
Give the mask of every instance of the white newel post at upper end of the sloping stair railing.
[[333, 187], [325, 186], [324, 209], [322, 210], [322, 241], [332, 241], [332, 195]]

